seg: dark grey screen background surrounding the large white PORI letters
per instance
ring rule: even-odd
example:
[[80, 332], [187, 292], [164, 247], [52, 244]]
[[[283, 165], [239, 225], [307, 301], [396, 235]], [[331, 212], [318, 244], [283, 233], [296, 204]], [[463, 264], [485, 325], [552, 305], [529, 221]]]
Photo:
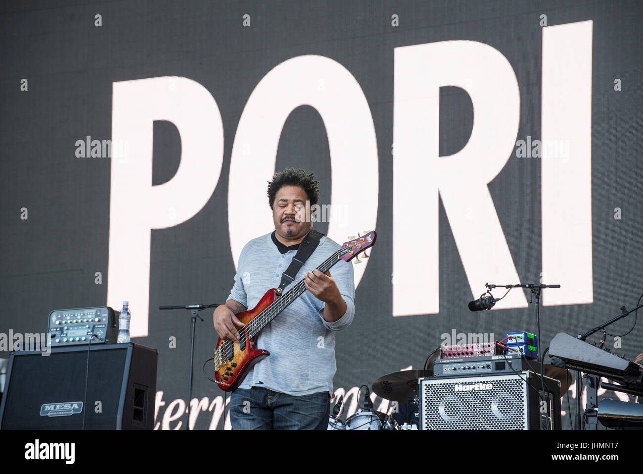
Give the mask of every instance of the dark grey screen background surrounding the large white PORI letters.
[[[199, 82], [212, 93], [224, 126], [221, 179], [208, 204], [177, 227], [152, 231], [149, 336], [159, 350], [163, 401], [186, 399], [188, 312], [159, 305], [219, 302], [235, 272], [228, 238], [228, 171], [240, 113], [271, 68], [317, 54], [343, 64], [365, 93], [379, 151], [378, 240], [356, 292], [352, 326], [337, 335], [336, 387], [371, 384], [409, 365], [419, 368], [440, 334], [535, 331], [535, 309], [470, 313], [473, 297], [440, 204], [440, 313], [393, 318], [392, 155], [394, 48], [475, 40], [507, 57], [520, 87], [518, 138], [540, 136], [541, 26], [593, 20], [592, 238], [594, 303], [545, 307], [543, 347], [556, 332], [582, 332], [635, 305], [643, 292], [640, 235], [643, 106], [640, 2], [386, 2], [386, 1], [5, 1], [0, 5], [0, 149], [3, 186], [0, 245], [0, 332], [44, 332], [55, 308], [104, 305], [109, 236], [109, 159], [75, 157], [86, 135], [111, 138], [112, 83], [165, 75]], [[102, 26], [94, 25], [95, 14]], [[251, 27], [242, 15], [251, 15]], [[391, 15], [399, 15], [399, 26]], [[28, 91], [20, 90], [28, 79]], [[622, 81], [622, 91], [613, 81]], [[444, 88], [440, 154], [464, 146], [473, 120], [464, 91]], [[174, 125], [154, 127], [153, 184], [176, 172], [181, 144]], [[331, 166], [323, 122], [310, 107], [295, 109], [280, 139], [277, 169], [303, 167], [321, 181], [330, 202]], [[509, 159], [489, 185], [521, 281], [537, 283], [540, 266], [540, 160]], [[266, 205], [264, 202], [257, 205]], [[21, 207], [28, 220], [20, 219]], [[614, 209], [622, 209], [621, 220]], [[318, 225], [325, 231], [325, 225]], [[406, 229], [413, 234], [412, 224]], [[417, 252], [421, 252], [421, 246]], [[95, 284], [95, 272], [103, 275]], [[483, 289], [480, 289], [482, 293]], [[529, 296], [528, 296], [529, 300]], [[136, 318], [134, 307], [133, 317]], [[216, 334], [210, 312], [197, 325], [194, 396], [221, 395], [201, 374]], [[625, 332], [633, 318], [617, 323]], [[168, 348], [168, 337], [177, 348]], [[629, 357], [643, 352], [638, 325], [622, 341]], [[608, 341], [610, 343], [610, 341]], [[5, 352], [2, 357], [7, 357]], [[613, 394], [612, 394], [613, 395]], [[377, 406], [377, 405], [376, 405]], [[166, 406], [159, 409], [157, 421]], [[210, 426], [203, 413], [197, 428]], [[176, 427], [176, 422], [170, 424]], [[221, 424], [219, 425], [221, 428]]]

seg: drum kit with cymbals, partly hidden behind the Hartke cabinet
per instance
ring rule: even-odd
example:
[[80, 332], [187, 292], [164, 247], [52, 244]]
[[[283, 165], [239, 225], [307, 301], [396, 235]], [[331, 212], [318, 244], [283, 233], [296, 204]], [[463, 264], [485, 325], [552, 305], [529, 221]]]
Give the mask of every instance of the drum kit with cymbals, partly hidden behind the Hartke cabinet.
[[[439, 353], [432, 354], [426, 361], [426, 370], [401, 370], [379, 377], [373, 385], [372, 390], [379, 397], [390, 401], [397, 401], [399, 404], [407, 404], [412, 412], [414, 421], [400, 424], [392, 415], [377, 412], [370, 407], [350, 416], [345, 422], [339, 418], [340, 410], [334, 410], [329, 419], [329, 430], [417, 430], [417, 419], [419, 415], [419, 398], [417, 388], [418, 379], [421, 377], [433, 377], [433, 361], [439, 357]], [[557, 379], [561, 382], [561, 396], [567, 391], [566, 375], [568, 371], [545, 365], [543, 371], [546, 377]], [[569, 381], [568, 381], [569, 383]], [[401, 410], [402, 411], [402, 410]], [[413, 417], [412, 417], [413, 418]]]

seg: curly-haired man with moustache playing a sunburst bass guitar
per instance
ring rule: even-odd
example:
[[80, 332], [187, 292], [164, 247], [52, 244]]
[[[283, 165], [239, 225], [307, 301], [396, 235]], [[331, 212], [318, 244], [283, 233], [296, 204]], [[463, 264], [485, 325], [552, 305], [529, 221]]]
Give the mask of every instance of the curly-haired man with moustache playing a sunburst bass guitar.
[[[302, 241], [311, 242], [312, 219], [305, 214], [319, 199], [314, 176], [285, 169], [273, 176], [267, 194], [275, 231], [243, 248], [228, 301], [213, 314], [221, 339], [239, 342], [244, 324], [235, 314], [255, 307], [266, 290], [278, 288]], [[311, 236], [315, 234], [321, 237], [319, 243], [294, 279], [303, 278], [306, 291], [262, 328], [257, 347], [270, 355], [260, 359], [231, 393], [234, 430], [327, 427], [336, 372], [334, 333], [353, 319], [354, 279], [347, 261], [339, 261], [332, 275], [316, 270], [340, 245], [318, 232]]]

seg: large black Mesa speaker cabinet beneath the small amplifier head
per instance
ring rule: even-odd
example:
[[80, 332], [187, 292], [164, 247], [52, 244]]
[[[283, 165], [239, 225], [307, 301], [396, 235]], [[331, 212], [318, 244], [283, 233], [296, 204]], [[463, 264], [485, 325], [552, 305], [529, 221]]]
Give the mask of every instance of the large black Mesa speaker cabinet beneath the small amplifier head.
[[[154, 428], [158, 350], [135, 343], [54, 347], [10, 355], [3, 430]], [[87, 377], [87, 401], [85, 381]]]

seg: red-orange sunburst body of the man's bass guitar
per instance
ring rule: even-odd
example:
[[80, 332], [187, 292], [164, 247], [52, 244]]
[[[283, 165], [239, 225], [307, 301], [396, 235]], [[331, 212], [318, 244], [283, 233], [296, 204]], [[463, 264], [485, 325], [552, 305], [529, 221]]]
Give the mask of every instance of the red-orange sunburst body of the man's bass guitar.
[[[239, 312], [235, 314], [235, 316], [247, 326], [250, 321], [255, 319], [277, 298], [275, 289], [267, 290], [266, 294], [264, 294], [257, 303], [257, 306], [247, 311]], [[239, 343], [221, 339], [221, 337], [219, 337], [217, 341], [215, 352], [218, 352], [217, 350], [222, 344], [227, 343], [228, 345], [221, 354], [221, 361], [219, 361], [221, 366], [218, 368], [217, 360], [215, 359], [215, 379], [217, 380], [217, 384], [219, 384], [219, 388], [224, 392], [235, 390], [243, 381], [244, 377], [246, 377], [246, 374], [248, 374], [252, 366], [267, 355], [270, 355], [267, 350], [257, 348], [257, 336], [248, 339], [248, 335], [244, 335], [242, 330], [239, 330], [239, 335], [242, 336], [240, 337]], [[232, 346], [231, 351], [230, 346]]]

